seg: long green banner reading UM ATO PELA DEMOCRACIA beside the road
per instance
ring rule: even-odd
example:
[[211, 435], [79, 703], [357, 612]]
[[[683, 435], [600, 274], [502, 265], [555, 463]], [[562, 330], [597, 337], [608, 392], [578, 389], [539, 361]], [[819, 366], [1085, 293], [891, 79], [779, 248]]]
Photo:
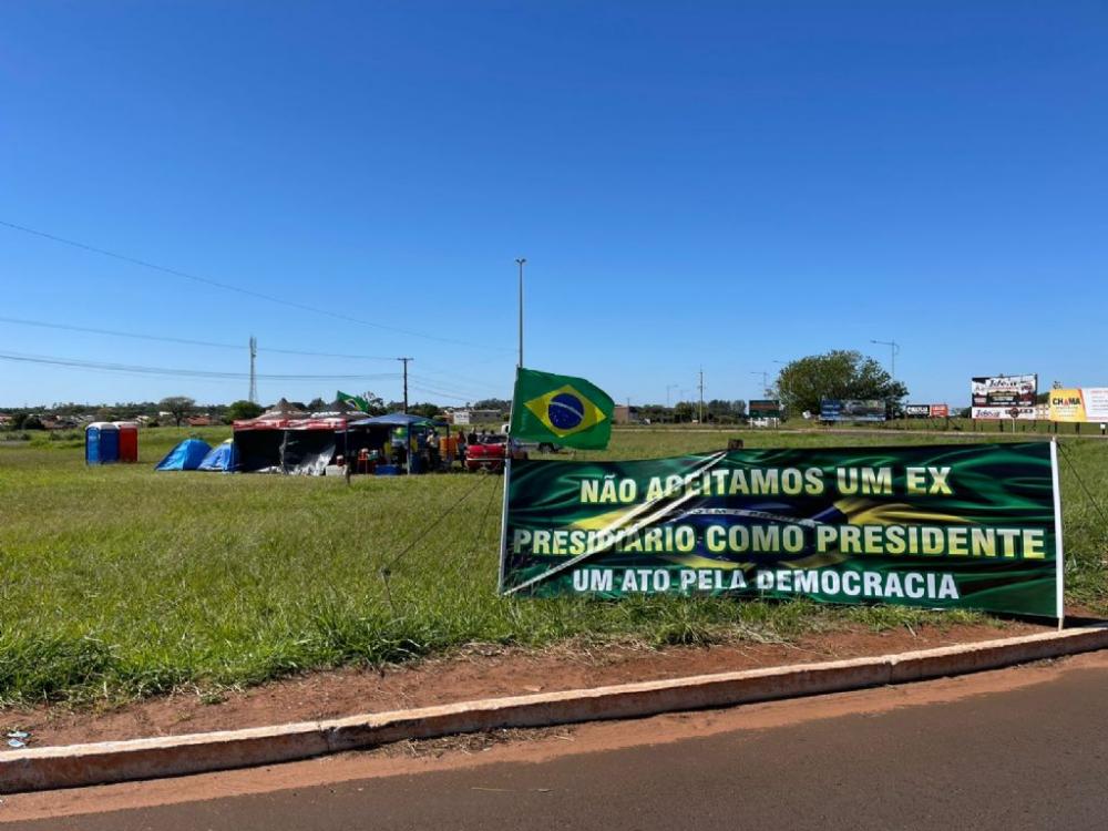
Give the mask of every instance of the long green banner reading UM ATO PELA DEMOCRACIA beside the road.
[[1050, 442], [524, 460], [501, 588], [804, 596], [1057, 616]]

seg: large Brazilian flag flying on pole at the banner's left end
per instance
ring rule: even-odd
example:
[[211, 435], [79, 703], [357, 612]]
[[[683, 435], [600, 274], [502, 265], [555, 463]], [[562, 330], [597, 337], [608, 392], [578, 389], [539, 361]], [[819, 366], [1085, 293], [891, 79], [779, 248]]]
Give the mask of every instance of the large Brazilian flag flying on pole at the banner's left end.
[[516, 370], [513, 439], [603, 450], [612, 438], [612, 398], [584, 378]]

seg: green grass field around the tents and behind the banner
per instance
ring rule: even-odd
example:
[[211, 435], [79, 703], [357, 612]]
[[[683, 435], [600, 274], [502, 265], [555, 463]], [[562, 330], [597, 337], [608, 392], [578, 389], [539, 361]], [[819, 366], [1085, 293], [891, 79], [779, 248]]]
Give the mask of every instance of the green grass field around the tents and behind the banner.
[[[348, 488], [336, 478], [154, 473], [193, 432], [147, 431], [141, 464], [91, 469], [80, 438], [0, 444], [0, 704], [248, 685], [469, 642], [660, 646], [973, 617], [807, 602], [503, 599], [495, 595], [501, 478], [356, 478]], [[211, 442], [229, 434], [198, 432]], [[731, 434], [748, 447], [974, 440]], [[608, 451], [588, 458], [714, 450], [725, 438], [617, 431]], [[1108, 442], [1064, 443], [1085, 485], [1108, 493]], [[1108, 526], [1065, 461], [1061, 482], [1067, 597], [1108, 612]]]

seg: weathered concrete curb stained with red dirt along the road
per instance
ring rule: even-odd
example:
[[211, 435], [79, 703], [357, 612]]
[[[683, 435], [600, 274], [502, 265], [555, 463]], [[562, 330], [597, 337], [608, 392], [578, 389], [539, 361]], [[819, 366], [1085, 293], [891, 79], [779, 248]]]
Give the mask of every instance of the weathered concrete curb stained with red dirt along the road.
[[75, 788], [307, 759], [402, 739], [840, 693], [1108, 647], [1108, 627], [741, 673], [464, 701], [328, 721], [0, 752], [0, 792]]

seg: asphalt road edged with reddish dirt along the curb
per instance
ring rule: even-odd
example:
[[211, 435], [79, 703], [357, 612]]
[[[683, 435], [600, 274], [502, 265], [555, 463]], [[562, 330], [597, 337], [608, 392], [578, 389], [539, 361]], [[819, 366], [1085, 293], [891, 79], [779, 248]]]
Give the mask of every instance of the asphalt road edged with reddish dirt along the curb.
[[[1108, 656], [1005, 673], [986, 674], [1009, 680], [982, 688], [979, 680], [938, 683], [950, 695], [915, 685], [849, 694], [831, 709], [823, 699], [782, 702], [757, 724], [741, 721], [741, 710], [663, 717], [637, 722], [638, 738], [615, 749], [529, 757], [516, 746], [505, 762], [302, 788], [294, 779], [294, 787], [243, 796], [216, 788], [213, 799], [0, 828], [1108, 827]], [[630, 728], [586, 727], [581, 736], [588, 729]], [[656, 740], [665, 743], [645, 743]], [[18, 806], [20, 798], [9, 799]]]

